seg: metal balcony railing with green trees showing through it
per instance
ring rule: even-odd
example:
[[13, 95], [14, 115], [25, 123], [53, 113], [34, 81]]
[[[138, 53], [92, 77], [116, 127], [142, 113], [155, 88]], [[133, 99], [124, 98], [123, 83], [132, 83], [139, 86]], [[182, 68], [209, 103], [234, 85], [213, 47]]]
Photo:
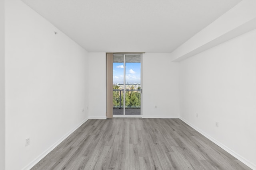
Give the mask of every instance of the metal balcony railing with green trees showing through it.
[[[126, 95], [126, 106], [125, 108], [140, 108], [140, 89], [126, 89], [125, 92], [131, 94], [136, 93], [135, 95]], [[124, 108], [124, 90], [123, 89], [113, 89], [113, 108], [123, 109]], [[129, 101], [130, 100], [130, 101]], [[131, 101], [132, 100], [132, 101]], [[129, 102], [128, 102], [129, 101]], [[136, 102], [135, 102], [136, 101]], [[128, 104], [127, 104], [128, 103]]]

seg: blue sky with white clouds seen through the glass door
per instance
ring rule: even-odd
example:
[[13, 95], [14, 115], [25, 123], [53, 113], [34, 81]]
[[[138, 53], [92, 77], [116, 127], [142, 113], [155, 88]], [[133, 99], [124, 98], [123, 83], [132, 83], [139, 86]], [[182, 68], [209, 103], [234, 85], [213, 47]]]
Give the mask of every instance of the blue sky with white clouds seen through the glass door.
[[[140, 63], [126, 63], [126, 83], [140, 83]], [[124, 83], [124, 64], [113, 63], [113, 83]]]

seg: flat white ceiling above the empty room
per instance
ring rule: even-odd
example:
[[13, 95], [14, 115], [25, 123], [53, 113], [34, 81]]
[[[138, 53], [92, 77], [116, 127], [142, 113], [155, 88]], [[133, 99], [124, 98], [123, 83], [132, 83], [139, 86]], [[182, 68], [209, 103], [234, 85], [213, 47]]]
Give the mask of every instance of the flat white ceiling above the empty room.
[[89, 52], [172, 52], [241, 0], [22, 0]]

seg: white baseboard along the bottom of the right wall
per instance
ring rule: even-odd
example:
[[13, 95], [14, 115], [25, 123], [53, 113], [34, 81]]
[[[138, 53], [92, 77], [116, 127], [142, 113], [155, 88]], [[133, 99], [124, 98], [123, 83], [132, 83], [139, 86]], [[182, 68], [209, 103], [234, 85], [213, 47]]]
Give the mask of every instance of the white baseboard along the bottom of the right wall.
[[215, 143], [216, 145], [218, 145], [219, 147], [221, 147], [222, 149], [226, 150], [228, 153], [230, 153], [232, 156], [234, 156], [235, 158], [237, 158], [238, 160], [240, 160], [241, 162], [243, 162], [244, 164], [246, 164], [247, 166], [249, 166], [250, 168], [252, 168], [253, 170], [256, 170], [256, 165], [253, 164], [252, 162], [248, 161], [246, 158], [244, 158], [243, 156], [241, 156], [240, 154], [237, 154], [236, 152], [234, 152], [232, 149], [226, 147], [225, 145], [223, 145], [222, 143], [220, 143], [219, 141], [217, 141], [216, 139], [214, 139], [213, 137], [211, 137], [210, 135], [208, 135], [207, 133], [205, 133], [204, 131], [202, 131], [201, 129], [198, 129], [197, 127], [195, 127], [194, 125], [192, 125], [191, 123], [189, 123], [188, 121], [186, 121], [184, 118], [180, 117], [180, 119], [182, 121], [184, 121], [186, 124], [188, 124], [190, 127], [192, 127], [193, 129], [195, 129], [196, 131], [198, 131], [199, 133], [201, 133], [202, 135], [204, 135], [206, 138], [208, 138], [210, 141], [212, 141], [213, 143]]

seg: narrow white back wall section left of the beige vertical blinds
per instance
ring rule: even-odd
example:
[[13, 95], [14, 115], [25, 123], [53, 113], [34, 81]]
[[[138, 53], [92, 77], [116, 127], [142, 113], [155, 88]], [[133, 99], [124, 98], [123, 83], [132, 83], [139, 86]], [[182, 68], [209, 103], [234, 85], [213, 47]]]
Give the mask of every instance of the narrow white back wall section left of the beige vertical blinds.
[[89, 53], [89, 117], [106, 118], [106, 53]]

